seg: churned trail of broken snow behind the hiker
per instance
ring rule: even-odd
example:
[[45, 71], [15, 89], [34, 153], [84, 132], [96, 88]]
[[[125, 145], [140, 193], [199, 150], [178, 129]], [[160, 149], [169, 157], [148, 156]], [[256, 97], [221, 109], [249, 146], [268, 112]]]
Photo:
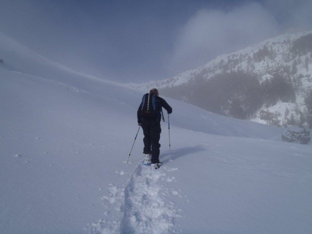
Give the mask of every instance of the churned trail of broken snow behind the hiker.
[[172, 233], [174, 219], [180, 215], [168, 200], [172, 191], [160, 183], [168, 181], [166, 170], [166, 166], [158, 170], [137, 167], [125, 188], [121, 233]]

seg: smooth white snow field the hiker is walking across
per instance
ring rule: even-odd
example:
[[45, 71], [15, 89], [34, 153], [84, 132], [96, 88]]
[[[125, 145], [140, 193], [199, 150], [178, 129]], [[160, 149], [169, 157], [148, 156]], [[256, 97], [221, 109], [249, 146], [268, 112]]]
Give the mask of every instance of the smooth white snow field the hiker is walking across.
[[311, 144], [165, 97], [151, 170], [144, 92], [0, 42], [0, 233], [312, 233]]

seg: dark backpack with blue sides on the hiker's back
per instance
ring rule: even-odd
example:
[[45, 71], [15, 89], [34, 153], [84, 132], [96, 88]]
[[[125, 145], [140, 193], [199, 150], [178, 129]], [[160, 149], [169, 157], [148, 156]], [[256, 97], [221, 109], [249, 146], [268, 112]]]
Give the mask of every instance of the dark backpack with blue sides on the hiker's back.
[[161, 119], [161, 104], [153, 93], [144, 94], [141, 103], [141, 116], [148, 119]]

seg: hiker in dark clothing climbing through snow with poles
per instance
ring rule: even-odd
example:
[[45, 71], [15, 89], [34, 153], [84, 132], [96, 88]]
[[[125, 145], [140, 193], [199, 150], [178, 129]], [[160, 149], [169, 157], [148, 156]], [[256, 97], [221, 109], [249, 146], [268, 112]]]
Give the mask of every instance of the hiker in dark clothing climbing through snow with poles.
[[142, 127], [144, 134], [143, 164], [150, 164], [153, 169], [158, 169], [162, 166], [162, 163], [159, 161], [162, 107], [166, 109], [168, 114], [172, 113], [171, 106], [159, 97], [158, 90], [151, 89], [149, 94], [143, 96], [137, 110], [137, 122]]

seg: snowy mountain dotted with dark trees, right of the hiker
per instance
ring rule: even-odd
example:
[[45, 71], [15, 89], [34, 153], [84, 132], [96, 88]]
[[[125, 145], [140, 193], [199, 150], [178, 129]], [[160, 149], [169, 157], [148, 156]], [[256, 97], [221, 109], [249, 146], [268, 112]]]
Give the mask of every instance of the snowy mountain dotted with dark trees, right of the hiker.
[[312, 126], [312, 32], [288, 32], [218, 56], [170, 79], [132, 87], [160, 91], [214, 113]]

